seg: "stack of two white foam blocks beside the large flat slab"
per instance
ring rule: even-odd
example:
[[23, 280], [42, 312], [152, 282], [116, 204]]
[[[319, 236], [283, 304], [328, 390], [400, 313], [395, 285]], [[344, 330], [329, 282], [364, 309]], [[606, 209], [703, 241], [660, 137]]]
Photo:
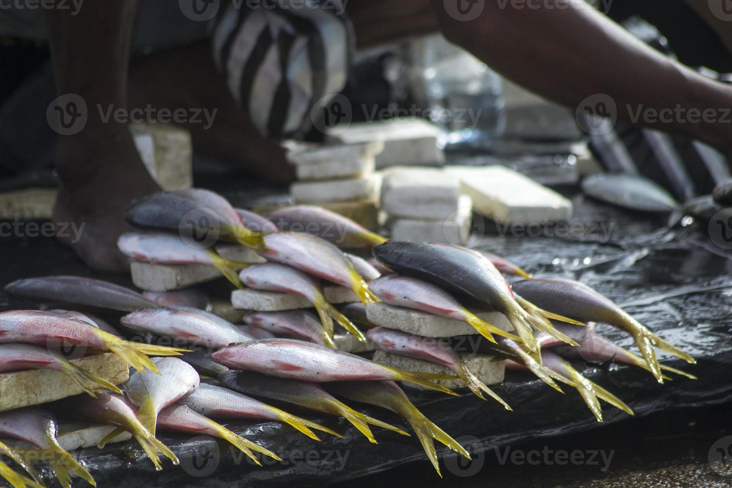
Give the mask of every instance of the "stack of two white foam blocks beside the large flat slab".
[[396, 241], [464, 244], [472, 200], [460, 181], [440, 168], [395, 167], [384, 172], [381, 211]]

